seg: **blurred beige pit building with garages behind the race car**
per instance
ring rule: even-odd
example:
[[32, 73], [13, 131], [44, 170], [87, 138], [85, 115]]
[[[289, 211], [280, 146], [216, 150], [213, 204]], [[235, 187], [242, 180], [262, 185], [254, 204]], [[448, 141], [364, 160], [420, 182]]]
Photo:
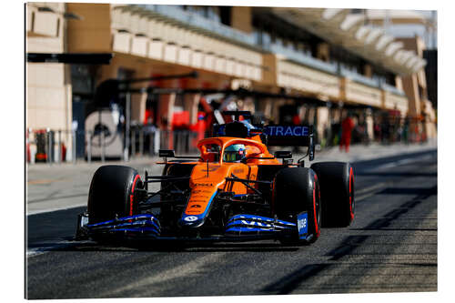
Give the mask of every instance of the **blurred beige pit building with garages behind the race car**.
[[[224, 109], [314, 124], [322, 147], [338, 143], [348, 114], [354, 143], [436, 136], [435, 12], [80, 3], [25, 10], [27, 53], [114, 55], [108, 65], [26, 64], [32, 161], [43, 148], [59, 161], [87, 157], [101, 138], [122, 149], [119, 157], [191, 147]], [[192, 71], [196, 78], [147, 81]], [[109, 79], [146, 81], [118, 82], [106, 94], [100, 85]]]

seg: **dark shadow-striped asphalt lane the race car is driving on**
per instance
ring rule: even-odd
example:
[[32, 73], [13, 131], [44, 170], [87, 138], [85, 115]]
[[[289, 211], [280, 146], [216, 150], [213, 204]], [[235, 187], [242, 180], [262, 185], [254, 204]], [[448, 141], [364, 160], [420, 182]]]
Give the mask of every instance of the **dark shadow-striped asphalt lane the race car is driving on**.
[[437, 290], [437, 153], [353, 164], [356, 218], [304, 247], [74, 243], [85, 207], [28, 216], [27, 298], [124, 298]]

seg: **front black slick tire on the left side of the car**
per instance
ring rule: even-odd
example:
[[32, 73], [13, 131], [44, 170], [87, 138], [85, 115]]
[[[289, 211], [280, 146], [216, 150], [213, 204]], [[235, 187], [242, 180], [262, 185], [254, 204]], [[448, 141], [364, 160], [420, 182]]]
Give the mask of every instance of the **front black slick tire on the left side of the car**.
[[99, 223], [137, 214], [135, 190], [143, 182], [136, 169], [122, 166], [99, 167], [88, 192], [88, 222]]

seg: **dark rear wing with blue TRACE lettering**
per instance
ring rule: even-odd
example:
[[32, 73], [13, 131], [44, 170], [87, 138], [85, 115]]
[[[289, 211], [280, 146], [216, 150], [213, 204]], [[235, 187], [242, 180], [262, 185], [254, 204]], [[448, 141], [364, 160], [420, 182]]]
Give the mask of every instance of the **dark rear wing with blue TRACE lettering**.
[[268, 146], [308, 146], [308, 158], [314, 159], [313, 126], [264, 126]]

